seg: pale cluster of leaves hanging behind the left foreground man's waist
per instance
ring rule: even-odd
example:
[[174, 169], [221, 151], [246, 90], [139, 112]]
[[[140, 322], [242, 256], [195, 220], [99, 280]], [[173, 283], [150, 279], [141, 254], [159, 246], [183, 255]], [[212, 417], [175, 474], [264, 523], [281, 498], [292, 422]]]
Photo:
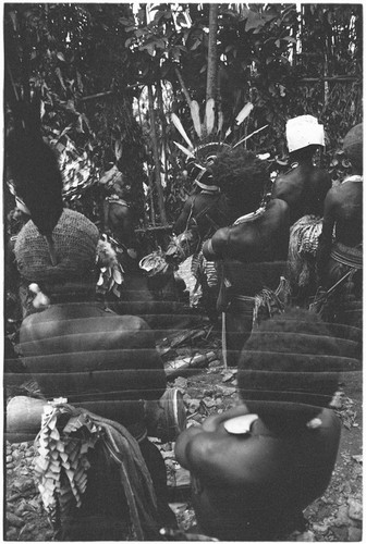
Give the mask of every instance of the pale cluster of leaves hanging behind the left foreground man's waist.
[[90, 467], [87, 453], [100, 437], [100, 429], [86, 413], [70, 417], [61, 429], [60, 419], [68, 413], [68, 405], [46, 406], [35, 441], [38, 490], [53, 527], [72, 506], [81, 507]]

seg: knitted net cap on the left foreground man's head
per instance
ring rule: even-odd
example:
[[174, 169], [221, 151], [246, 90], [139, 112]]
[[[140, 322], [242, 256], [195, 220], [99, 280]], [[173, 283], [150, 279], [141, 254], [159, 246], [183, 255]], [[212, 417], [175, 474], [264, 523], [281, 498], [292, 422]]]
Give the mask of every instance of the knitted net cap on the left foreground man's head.
[[95, 280], [96, 248], [99, 231], [81, 213], [64, 209], [52, 232], [57, 264], [52, 265], [48, 245], [32, 220], [17, 235], [14, 251], [21, 276], [29, 282], [54, 286]]

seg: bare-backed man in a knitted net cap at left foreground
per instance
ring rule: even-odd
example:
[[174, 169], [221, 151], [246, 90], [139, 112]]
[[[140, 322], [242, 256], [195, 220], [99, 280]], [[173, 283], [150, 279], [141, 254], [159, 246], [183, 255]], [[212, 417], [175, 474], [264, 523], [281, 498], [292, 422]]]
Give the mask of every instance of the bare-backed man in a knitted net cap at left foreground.
[[[160, 398], [167, 386], [154, 332], [143, 319], [118, 316], [95, 300], [99, 232], [88, 219], [64, 209], [52, 238], [56, 265], [32, 220], [15, 244], [16, 263], [24, 282], [37, 283], [50, 299], [47, 309], [23, 320], [20, 348], [24, 363], [47, 399], [65, 397], [70, 405], [85, 406], [127, 429], [138, 442], [151, 474], [158, 522], [174, 524], [166, 496], [164, 462], [147, 438], [144, 420], [144, 400]], [[65, 540], [123, 537], [118, 470], [114, 468], [115, 477], [108, 482], [106, 467], [100, 461], [101, 450], [95, 452], [97, 458], [88, 471], [85, 505], [65, 528]], [[113, 500], [114, 496], [120, 498]]]

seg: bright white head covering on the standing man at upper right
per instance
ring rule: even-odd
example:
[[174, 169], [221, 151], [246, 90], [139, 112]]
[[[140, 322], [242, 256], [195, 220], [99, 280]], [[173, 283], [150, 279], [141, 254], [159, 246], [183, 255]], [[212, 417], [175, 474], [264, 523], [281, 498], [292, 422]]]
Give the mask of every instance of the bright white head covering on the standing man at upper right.
[[290, 153], [298, 153], [305, 148], [307, 154], [314, 154], [318, 146], [325, 146], [324, 126], [313, 115], [300, 115], [286, 123], [286, 140]]

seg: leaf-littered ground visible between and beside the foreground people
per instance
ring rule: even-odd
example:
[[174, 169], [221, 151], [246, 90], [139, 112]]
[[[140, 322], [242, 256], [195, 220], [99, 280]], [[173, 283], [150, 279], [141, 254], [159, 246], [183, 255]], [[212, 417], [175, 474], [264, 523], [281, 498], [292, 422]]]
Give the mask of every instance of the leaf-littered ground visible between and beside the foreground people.
[[[186, 264], [187, 267], [187, 264]], [[188, 269], [185, 270], [187, 272]], [[184, 272], [184, 271], [183, 271]], [[185, 273], [187, 277], [187, 273]], [[190, 287], [193, 287], [191, 280]], [[225, 370], [221, 361], [220, 333], [210, 326], [163, 356], [171, 359], [196, 354], [215, 354], [204, 368], [175, 374], [169, 381], [182, 394], [187, 424], [197, 425], [207, 416], [220, 413], [237, 404], [236, 371]], [[337, 465], [327, 492], [305, 511], [308, 529], [292, 534], [291, 541], [359, 542], [362, 540], [363, 422], [362, 375], [347, 373], [341, 379], [333, 408], [342, 421]], [[157, 441], [166, 461], [171, 507], [180, 529], [195, 523], [190, 502], [188, 473], [174, 459], [174, 443]], [[4, 534], [7, 541], [51, 541], [52, 529], [35, 485], [32, 443], [4, 444]], [[179, 540], [179, 539], [176, 539]], [[182, 539], [183, 540], [183, 539]]]

